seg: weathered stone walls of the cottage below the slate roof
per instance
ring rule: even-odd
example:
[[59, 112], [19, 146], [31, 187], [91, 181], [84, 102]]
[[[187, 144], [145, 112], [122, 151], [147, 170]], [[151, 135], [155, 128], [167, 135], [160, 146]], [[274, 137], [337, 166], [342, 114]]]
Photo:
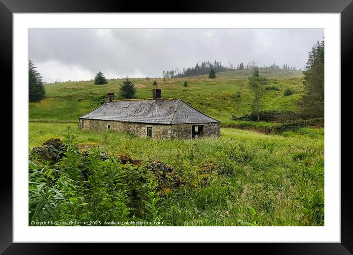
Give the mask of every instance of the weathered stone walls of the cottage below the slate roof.
[[105, 130], [106, 125], [110, 125], [112, 130], [126, 130], [140, 137], [147, 136], [147, 127], [152, 127], [152, 138], [155, 139], [191, 139], [192, 126], [199, 125], [203, 127], [203, 136], [220, 136], [220, 123], [199, 123], [199, 124], [174, 124], [174, 125], [153, 125], [142, 123], [125, 123], [118, 121], [101, 121], [101, 120], [79, 120], [79, 128], [89, 130]]

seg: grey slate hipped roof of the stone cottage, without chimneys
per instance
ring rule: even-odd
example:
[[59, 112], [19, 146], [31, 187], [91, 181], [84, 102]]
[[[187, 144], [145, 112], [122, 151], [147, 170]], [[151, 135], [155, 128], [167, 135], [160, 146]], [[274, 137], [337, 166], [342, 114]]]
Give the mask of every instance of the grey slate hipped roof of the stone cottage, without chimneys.
[[111, 101], [80, 119], [150, 124], [220, 123], [181, 99], [165, 98]]

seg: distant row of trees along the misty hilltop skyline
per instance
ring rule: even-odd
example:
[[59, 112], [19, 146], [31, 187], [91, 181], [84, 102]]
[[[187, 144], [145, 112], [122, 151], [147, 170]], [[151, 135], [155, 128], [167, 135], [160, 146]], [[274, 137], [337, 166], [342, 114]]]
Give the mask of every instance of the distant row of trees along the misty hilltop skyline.
[[244, 69], [284, 69], [284, 70], [297, 70], [294, 66], [289, 66], [288, 64], [283, 64], [282, 68], [277, 64], [272, 64], [270, 66], [258, 67], [256, 61], [249, 61], [246, 65], [242, 62], [235, 66], [233, 63], [228, 62], [228, 66], [222, 65], [221, 61], [216, 61], [212, 63], [211, 61], [203, 61], [201, 64], [196, 63], [195, 67], [183, 68], [182, 70], [176, 68], [171, 71], [163, 71], [162, 77], [164, 79], [169, 78], [181, 78], [209, 74], [211, 70], [215, 73], [224, 71], [234, 71], [234, 70], [244, 70]]

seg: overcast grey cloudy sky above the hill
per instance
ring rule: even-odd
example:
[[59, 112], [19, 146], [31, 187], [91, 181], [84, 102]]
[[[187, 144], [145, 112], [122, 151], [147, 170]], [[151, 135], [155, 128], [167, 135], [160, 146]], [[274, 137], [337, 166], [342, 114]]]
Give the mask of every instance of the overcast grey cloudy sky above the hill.
[[45, 82], [160, 77], [216, 59], [304, 69], [323, 29], [29, 29], [29, 58]]

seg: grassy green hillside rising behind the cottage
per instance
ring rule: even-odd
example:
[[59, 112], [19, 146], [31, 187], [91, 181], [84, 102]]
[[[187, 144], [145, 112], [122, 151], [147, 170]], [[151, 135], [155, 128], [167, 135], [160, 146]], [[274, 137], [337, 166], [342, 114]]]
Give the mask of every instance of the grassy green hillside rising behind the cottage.
[[[206, 75], [190, 78], [157, 79], [162, 97], [181, 98], [195, 108], [218, 119], [227, 126], [231, 115], [243, 115], [250, 111], [252, 92], [247, 78], [251, 70], [217, 73], [217, 79]], [[260, 75], [269, 79], [269, 85], [280, 90], [265, 90], [263, 110], [297, 111], [295, 101], [303, 92], [303, 74], [300, 71], [260, 70]], [[132, 79], [137, 87], [137, 98], [151, 98], [153, 79]], [[184, 81], [188, 87], [183, 87]], [[78, 121], [78, 117], [106, 101], [99, 101], [112, 90], [117, 92], [122, 80], [109, 80], [106, 85], [94, 85], [93, 81], [45, 85], [47, 97], [40, 102], [29, 104], [30, 121]], [[290, 96], [283, 96], [286, 87], [295, 90]], [[116, 93], [117, 94], [117, 93]], [[116, 98], [118, 99], [118, 98]]]

